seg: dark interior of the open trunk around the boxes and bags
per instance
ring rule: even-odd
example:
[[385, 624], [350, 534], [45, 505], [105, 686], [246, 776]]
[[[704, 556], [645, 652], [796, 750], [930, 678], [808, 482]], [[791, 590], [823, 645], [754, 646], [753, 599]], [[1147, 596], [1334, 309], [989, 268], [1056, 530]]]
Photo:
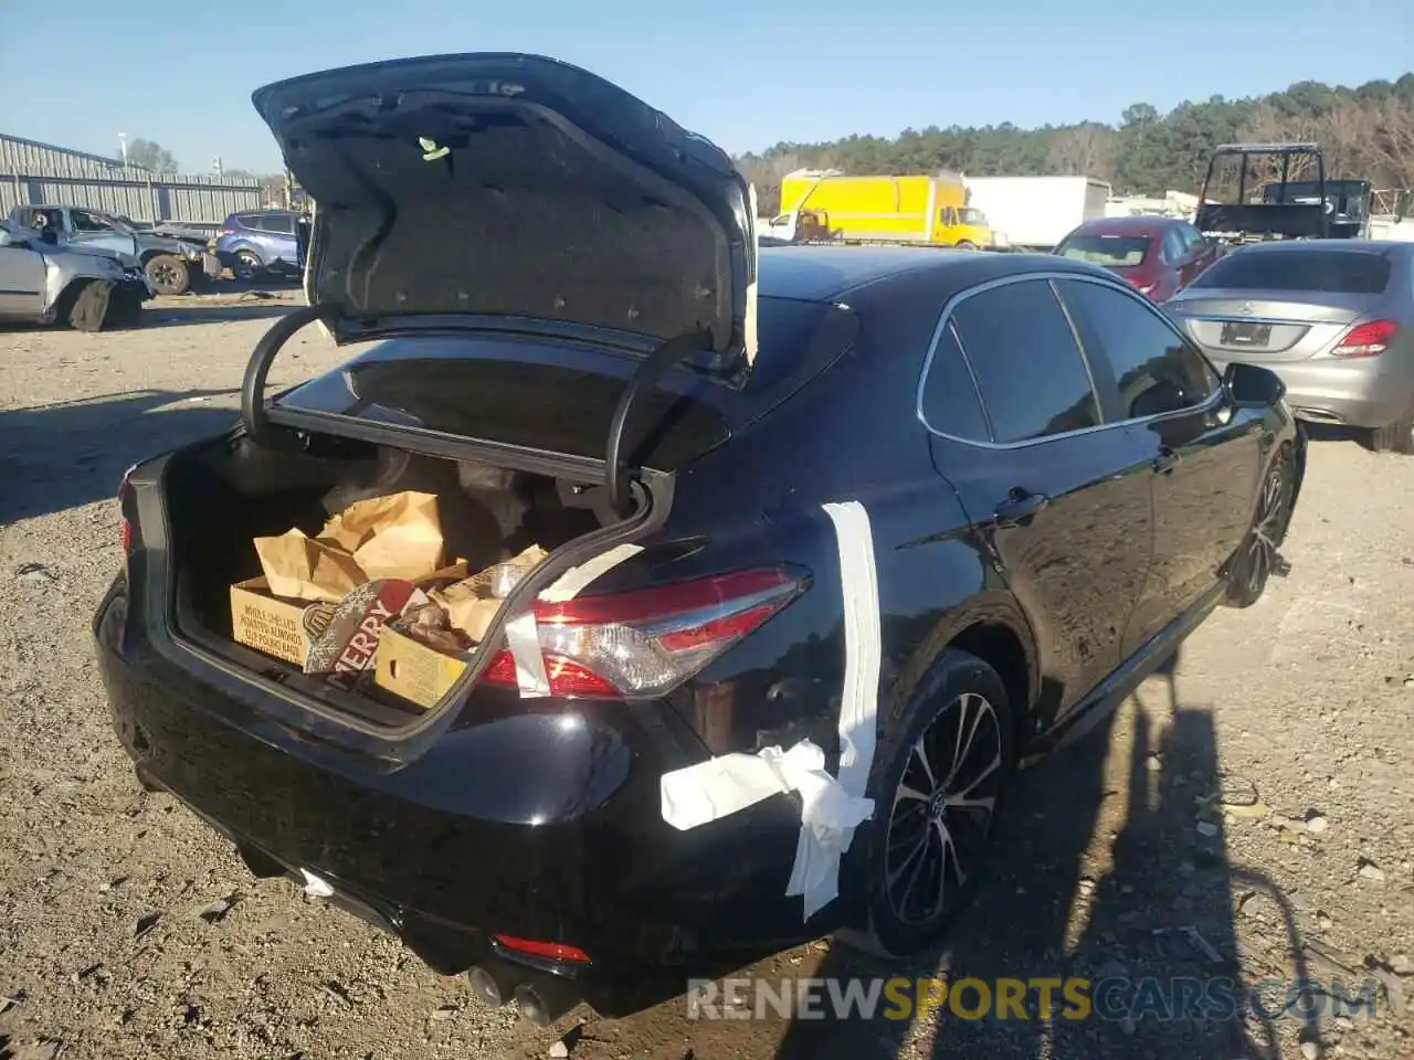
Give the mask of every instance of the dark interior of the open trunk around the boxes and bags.
[[232, 639], [230, 587], [262, 574], [252, 540], [298, 527], [317, 534], [356, 500], [419, 490], [438, 499], [447, 563], [475, 572], [539, 544], [561, 544], [619, 522], [602, 483], [583, 483], [452, 462], [341, 438], [304, 451], [263, 448], [246, 437], [187, 449], [168, 465], [170, 592], [177, 630], [222, 657], [387, 725], [426, 711], [365, 681], [329, 688], [300, 667]]

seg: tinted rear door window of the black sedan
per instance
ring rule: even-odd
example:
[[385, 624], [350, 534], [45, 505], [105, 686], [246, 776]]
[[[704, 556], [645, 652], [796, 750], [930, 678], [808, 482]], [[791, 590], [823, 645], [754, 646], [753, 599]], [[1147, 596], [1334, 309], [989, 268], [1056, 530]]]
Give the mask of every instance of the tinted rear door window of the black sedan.
[[952, 314], [993, 437], [1022, 442], [1100, 423], [1090, 373], [1046, 280], [964, 298]]

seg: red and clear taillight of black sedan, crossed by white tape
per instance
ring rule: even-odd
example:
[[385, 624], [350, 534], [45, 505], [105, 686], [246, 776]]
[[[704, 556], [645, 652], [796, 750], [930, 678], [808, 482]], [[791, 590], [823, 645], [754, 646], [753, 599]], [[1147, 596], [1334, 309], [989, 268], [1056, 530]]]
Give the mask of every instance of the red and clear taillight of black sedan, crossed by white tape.
[[[534, 605], [551, 695], [660, 695], [700, 671], [789, 603], [802, 582], [781, 570], [752, 570], [561, 603]], [[516, 685], [503, 650], [482, 676]]]

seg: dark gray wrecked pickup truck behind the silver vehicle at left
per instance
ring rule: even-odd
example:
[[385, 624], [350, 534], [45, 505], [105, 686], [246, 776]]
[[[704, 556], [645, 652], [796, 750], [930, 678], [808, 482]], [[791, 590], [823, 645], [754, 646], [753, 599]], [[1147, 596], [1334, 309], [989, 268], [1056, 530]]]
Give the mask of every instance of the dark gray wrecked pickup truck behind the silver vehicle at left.
[[51, 246], [112, 252], [124, 266], [141, 269], [158, 294], [185, 294], [204, 273], [221, 274], [215, 257], [199, 240], [143, 232], [122, 218], [86, 206], [16, 206], [10, 223], [37, 229]]

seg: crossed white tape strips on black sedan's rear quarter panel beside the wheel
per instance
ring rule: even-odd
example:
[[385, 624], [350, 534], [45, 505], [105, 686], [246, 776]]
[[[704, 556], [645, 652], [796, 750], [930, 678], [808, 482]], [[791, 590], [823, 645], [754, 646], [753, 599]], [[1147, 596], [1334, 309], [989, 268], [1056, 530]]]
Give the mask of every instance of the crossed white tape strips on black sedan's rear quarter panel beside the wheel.
[[840, 861], [854, 830], [874, 814], [864, 797], [874, 766], [878, 684], [882, 657], [874, 530], [864, 505], [824, 505], [840, 553], [844, 609], [844, 687], [840, 700], [840, 775], [824, 766], [824, 752], [800, 741], [782, 752], [732, 753], [663, 775], [663, 820], [687, 830], [782, 791], [800, 794], [800, 834], [786, 895], [803, 899], [803, 919], [839, 896]]

